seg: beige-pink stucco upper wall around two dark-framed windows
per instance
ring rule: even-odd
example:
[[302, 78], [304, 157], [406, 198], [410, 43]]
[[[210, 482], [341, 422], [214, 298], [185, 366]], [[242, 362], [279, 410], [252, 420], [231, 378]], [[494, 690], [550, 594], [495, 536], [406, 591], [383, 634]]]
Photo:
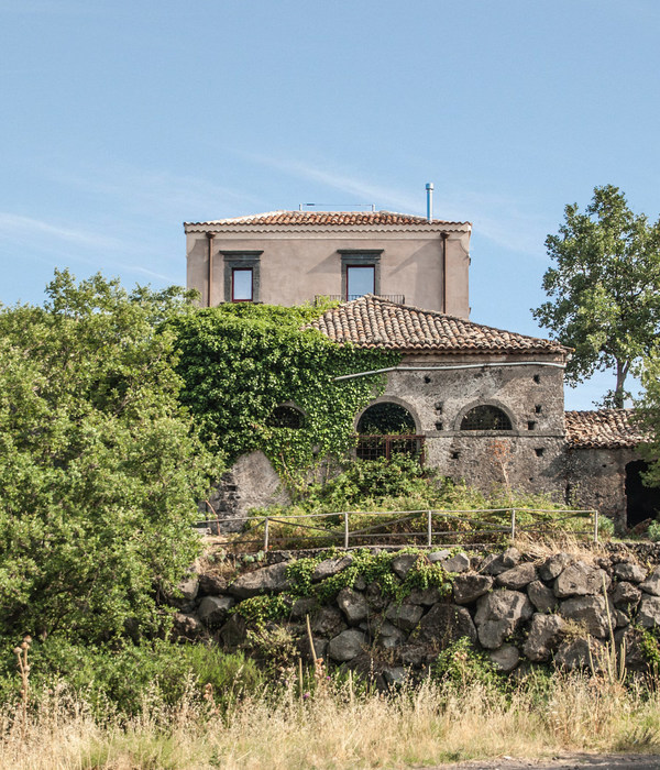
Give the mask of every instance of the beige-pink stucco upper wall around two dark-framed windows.
[[[211, 230], [212, 232], [212, 230]], [[224, 257], [222, 251], [261, 251], [260, 301], [299, 305], [316, 295], [340, 295], [342, 290], [340, 249], [383, 250], [381, 255], [382, 295], [404, 295], [408, 305], [446, 311], [468, 318], [470, 227], [449, 231], [447, 239], [447, 289], [442, 274], [442, 237], [437, 231], [359, 231], [333, 228], [309, 232], [302, 228], [280, 228], [253, 232], [216, 231], [211, 305], [224, 301]], [[187, 286], [208, 305], [208, 239], [202, 228], [187, 232]], [[443, 295], [447, 307], [442, 307]]]

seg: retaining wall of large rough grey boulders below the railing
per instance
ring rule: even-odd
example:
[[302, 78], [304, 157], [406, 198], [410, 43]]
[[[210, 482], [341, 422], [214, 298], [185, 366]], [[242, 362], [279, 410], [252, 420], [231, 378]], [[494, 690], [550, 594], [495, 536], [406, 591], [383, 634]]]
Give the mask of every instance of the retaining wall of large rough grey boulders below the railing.
[[[659, 553], [652, 546], [613, 546], [607, 553], [560, 552], [542, 559], [515, 548], [476, 556], [404, 552], [389, 563], [391, 585], [402, 585], [410, 571], [435, 563], [448, 575], [447, 590], [414, 588], [394, 601], [377, 581], [358, 574], [352, 587], [343, 587], [324, 605], [287, 593], [293, 554], [268, 556], [272, 563], [230, 581], [213, 572], [193, 574], [175, 600], [177, 632], [213, 638], [234, 649], [249, 627], [237, 606], [254, 596], [279, 596], [286, 610], [277, 623], [304, 657], [309, 657], [309, 615], [317, 656], [329, 664], [373, 671], [385, 684], [407, 670], [424, 672], [462, 637], [502, 672], [520, 673], [538, 663], [597, 668], [609, 640], [619, 649], [625, 642], [629, 670], [644, 670], [639, 640], [645, 629], [660, 625]], [[354, 559], [346, 552], [321, 560], [312, 586], [346, 570]]]

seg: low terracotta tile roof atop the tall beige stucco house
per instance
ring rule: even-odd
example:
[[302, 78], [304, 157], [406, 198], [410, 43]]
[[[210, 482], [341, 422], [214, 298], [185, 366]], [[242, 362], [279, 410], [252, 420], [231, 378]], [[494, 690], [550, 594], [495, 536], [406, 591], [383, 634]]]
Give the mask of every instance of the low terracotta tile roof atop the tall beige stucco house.
[[394, 211], [268, 211], [254, 213], [248, 217], [234, 217], [232, 219], [216, 219], [207, 222], [185, 222], [186, 227], [221, 227], [231, 228], [240, 226], [273, 226], [273, 224], [299, 224], [314, 226], [462, 226], [470, 227], [470, 222], [451, 222], [443, 219], [433, 219], [431, 222], [426, 217], [416, 217], [409, 213], [396, 213]]

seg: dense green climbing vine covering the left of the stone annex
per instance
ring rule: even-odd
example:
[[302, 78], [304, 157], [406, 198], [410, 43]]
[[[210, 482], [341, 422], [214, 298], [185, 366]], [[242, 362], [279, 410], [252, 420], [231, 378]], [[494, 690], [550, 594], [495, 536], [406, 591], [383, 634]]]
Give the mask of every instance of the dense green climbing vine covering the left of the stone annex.
[[[180, 399], [229, 464], [261, 449], [296, 488], [321, 459], [351, 449], [355, 415], [382, 393], [384, 378], [334, 377], [393, 366], [400, 355], [338, 345], [304, 328], [326, 309], [226, 304], [168, 322], [184, 380]], [[300, 428], [268, 425], [282, 404], [302, 411]]]

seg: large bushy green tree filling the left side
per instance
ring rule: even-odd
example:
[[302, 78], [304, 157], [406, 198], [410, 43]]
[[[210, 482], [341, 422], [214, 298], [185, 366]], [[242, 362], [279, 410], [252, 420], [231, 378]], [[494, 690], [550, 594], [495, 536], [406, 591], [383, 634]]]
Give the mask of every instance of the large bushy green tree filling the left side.
[[211, 466], [158, 329], [189, 305], [67, 272], [47, 296], [0, 308], [0, 634], [154, 629]]

